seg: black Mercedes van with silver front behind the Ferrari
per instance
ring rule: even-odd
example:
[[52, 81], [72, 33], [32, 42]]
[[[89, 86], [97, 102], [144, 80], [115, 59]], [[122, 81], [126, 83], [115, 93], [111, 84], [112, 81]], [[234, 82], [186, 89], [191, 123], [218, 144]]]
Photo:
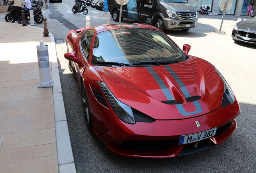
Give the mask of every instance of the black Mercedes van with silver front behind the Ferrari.
[[[120, 5], [116, 0], [104, 0], [105, 12], [119, 21]], [[151, 24], [160, 30], [188, 31], [197, 25], [197, 12], [187, 0], [129, 0], [122, 7], [122, 18]]]

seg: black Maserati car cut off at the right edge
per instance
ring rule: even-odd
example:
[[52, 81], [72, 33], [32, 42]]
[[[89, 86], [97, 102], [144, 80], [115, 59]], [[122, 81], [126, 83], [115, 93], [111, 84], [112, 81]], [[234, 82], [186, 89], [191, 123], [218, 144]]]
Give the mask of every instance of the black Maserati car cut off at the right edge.
[[235, 41], [256, 44], [256, 16], [235, 24], [232, 30], [232, 38]]

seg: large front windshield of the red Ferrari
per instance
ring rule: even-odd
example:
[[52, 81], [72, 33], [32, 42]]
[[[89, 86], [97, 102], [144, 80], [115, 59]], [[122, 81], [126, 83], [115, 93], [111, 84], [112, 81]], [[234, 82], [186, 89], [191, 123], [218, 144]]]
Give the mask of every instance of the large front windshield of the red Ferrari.
[[96, 35], [91, 63], [101, 66], [152, 66], [177, 63], [187, 58], [159, 30], [122, 28]]

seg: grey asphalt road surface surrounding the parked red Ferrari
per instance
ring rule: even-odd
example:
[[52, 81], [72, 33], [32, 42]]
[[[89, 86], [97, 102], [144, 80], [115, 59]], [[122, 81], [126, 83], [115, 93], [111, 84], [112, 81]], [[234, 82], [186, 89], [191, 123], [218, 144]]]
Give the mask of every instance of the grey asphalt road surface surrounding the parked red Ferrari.
[[[68, 119], [77, 173], [255, 173], [256, 172], [256, 46], [234, 42], [231, 31], [235, 20], [224, 20], [217, 34], [221, 19], [198, 20], [198, 26], [188, 32], [167, 31], [180, 48], [192, 46], [189, 54], [208, 60], [223, 74], [237, 97], [242, 113], [236, 118], [237, 130], [226, 141], [198, 153], [167, 158], [141, 159], [116, 155], [109, 151], [88, 131], [81, 106], [81, 93], [75, 77], [68, 69], [66, 34], [69, 30], [85, 28], [85, 15], [72, 14], [74, 1], [50, 3], [43, 16], [56, 40], [56, 50], [62, 84], [62, 93]], [[91, 26], [105, 24], [104, 12], [90, 8], [87, 15]], [[0, 16], [4, 21], [4, 15]], [[133, 22], [124, 20], [124, 23]], [[118, 23], [111, 20], [111, 23]], [[43, 24], [36, 24], [43, 28]]]

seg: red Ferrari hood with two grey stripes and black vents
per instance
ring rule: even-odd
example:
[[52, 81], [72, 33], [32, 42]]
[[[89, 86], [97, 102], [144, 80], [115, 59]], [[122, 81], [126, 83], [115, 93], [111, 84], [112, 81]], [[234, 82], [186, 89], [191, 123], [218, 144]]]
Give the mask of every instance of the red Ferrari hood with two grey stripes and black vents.
[[97, 70], [114, 96], [154, 119], [184, 119], [221, 106], [223, 81], [200, 58], [147, 67], [103, 67]]

